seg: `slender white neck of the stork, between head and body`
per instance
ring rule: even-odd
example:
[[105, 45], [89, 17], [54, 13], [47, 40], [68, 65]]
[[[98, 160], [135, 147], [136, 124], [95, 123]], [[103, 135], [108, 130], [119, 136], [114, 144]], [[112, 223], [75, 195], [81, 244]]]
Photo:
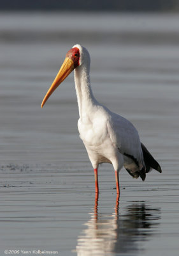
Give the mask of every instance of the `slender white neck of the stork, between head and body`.
[[98, 105], [90, 87], [89, 65], [75, 68], [75, 88], [80, 118], [90, 115]]

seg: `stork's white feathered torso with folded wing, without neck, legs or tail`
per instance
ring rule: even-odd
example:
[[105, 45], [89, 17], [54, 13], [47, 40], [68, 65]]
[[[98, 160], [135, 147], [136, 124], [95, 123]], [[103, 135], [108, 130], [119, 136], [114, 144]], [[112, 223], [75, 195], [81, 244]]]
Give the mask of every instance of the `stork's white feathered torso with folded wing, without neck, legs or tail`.
[[138, 170], [136, 163], [125, 154], [135, 156], [141, 168], [143, 157], [140, 138], [134, 126], [109, 109], [94, 105], [92, 112], [78, 120], [80, 138], [89, 154], [93, 168], [100, 163], [111, 163], [119, 171], [124, 165], [134, 172]]

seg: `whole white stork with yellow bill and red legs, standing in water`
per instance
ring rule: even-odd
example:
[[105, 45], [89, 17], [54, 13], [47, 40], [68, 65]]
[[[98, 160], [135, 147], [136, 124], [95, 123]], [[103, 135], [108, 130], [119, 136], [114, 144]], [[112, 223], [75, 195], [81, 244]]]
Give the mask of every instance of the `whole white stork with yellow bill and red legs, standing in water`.
[[145, 173], [151, 168], [161, 172], [157, 161], [141, 144], [134, 125], [99, 104], [94, 98], [90, 86], [90, 56], [85, 47], [74, 45], [67, 53], [66, 60], [48, 90], [42, 106], [73, 69], [75, 69], [75, 88], [80, 115], [78, 131], [94, 168], [96, 193], [98, 193], [97, 168], [100, 163], [113, 164], [118, 193], [118, 172], [122, 166], [132, 177], [140, 176], [143, 180]]

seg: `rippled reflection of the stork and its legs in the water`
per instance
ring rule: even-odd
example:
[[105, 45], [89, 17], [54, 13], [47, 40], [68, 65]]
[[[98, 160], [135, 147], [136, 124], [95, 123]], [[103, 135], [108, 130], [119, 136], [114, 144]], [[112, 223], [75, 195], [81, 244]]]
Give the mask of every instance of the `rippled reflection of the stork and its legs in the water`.
[[112, 215], [98, 214], [98, 197], [95, 199], [94, 211], [85, 223], [83, 235], [78, 237], [76, 252], [78, 256], [116, 255], [116, 253], [138, 252], [138, 243], [152, 235], [154, 225], [159, 225], [161, 211], [150, 208], [145, 202], [131, 202], [125, 211], [118, 213], [117, 196], [115, 211]]

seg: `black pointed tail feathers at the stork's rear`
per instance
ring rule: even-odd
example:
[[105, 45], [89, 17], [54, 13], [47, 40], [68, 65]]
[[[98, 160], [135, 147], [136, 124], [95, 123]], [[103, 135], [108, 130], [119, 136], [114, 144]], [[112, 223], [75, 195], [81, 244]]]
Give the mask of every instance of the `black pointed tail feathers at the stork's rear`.
[[[157, 161], [154, 159], [154, 157], [148, 152], [147, 148], [143, 143], [141, 143], [141, 148], [143, 151], [143, 158], [146, 166], [146, 171], [145, 172], [150, 172], [150, 170], [155, 169], [157, 172], [162, 172], [161, 166]], [[142, 170], [141, 170], [142, 172]], [[141, 175], [140, 175], [141, 176]], [[143, 180], [143, 177], [141, 177]]]

